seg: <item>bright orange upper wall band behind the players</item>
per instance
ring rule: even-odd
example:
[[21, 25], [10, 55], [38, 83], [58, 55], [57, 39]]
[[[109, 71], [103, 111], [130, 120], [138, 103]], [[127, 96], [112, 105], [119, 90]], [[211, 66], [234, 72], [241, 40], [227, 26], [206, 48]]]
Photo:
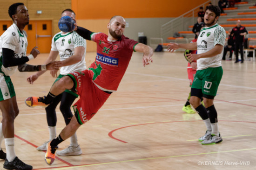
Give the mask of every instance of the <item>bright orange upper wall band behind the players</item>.
[[71, 0], [77, 20], [178, 17], [207, 0]]

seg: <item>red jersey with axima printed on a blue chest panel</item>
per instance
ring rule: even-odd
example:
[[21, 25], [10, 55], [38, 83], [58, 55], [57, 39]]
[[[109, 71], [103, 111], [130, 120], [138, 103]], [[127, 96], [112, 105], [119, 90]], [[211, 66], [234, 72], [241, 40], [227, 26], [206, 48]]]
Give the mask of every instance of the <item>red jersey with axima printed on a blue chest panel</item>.
[[88, 68], [93, 82], [103, 91], [115, 92], [138, 42], [124, 35], [117, 41], [108, 41], [105, 33], [94, 34], [92, 40], [97, 43], [95, 62]]

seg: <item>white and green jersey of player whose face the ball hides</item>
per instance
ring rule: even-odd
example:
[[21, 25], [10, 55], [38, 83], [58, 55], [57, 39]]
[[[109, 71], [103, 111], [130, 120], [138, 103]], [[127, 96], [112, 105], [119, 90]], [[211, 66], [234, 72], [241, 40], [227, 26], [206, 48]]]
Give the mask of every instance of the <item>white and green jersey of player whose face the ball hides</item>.
[[85, 52], [83, 54], [82, 60], [74, 65], [67, 65], [61, 67], [60, 74], [67, 75], [71, 72], [79, 72], [86, 69], [85, 65], [85, 53], [86, 53], [86, 40], [83, 39], [78, 33], [57, 33], [52, 39], [52, 49], [51, 51], [58, 51], [61, 61], [74, 55], [74, 49], [78, 46], [83, 46]]

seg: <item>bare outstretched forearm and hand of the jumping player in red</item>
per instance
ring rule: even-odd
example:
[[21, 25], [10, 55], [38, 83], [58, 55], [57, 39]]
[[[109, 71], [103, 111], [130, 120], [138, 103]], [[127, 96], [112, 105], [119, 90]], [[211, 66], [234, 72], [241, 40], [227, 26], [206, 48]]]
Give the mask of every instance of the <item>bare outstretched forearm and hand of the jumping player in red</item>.
[[136, 52], [143, 52], [143, 57], [142, 57], [142, 64], [145, 67], [146, 65], [149, 65], [150, 61], [151, 63], [153, 62], [152, 56], [153, 56], [153, 49], [150, 46], [147, 46], [142, 43], [138, 43], [135, 46], [135, 51]]

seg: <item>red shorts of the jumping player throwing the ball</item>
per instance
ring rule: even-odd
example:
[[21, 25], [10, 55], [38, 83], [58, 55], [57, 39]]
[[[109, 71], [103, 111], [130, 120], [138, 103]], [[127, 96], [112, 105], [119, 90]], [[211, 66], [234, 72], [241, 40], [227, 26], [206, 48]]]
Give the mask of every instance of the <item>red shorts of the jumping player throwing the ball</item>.
[[84, 124], [97, 113], [110, 94], [100, 90], [93, 83], [93, 73], [89, 70], [72, 72], [68, 76], [76, 83], [76, 90], [80, 96], [80, 99], [72, 106], [74, 115], [79, 124]]

